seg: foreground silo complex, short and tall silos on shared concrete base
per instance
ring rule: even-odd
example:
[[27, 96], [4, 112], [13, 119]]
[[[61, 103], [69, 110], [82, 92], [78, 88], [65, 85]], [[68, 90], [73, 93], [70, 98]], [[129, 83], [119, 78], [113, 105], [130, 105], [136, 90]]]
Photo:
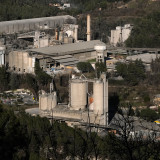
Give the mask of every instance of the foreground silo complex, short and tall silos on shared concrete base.
[[[92, 103], [88, 103], [88, 83], [93, 83]], [[55, 92], [39, 95], [39, 115], [78, 125], [108, 125], [108, 81], [106, 74], [100, 79], [82, 76], [70, 80], [69, 104], [57, 104]]]

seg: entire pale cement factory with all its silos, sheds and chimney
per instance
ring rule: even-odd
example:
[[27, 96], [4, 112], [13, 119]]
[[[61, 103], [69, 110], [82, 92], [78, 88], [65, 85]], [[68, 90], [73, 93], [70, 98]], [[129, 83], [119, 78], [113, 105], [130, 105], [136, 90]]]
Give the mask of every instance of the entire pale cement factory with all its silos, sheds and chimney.
[[[106, 58], [109, 52], [112, 55], [123, 52], [115, 50], [113, 46], [123, 43], [132, 28], [127, 24], [112, 30], [112, 46], [109, 48], [100, 40], [91, 40], [90, 15], [87, 15], [87, 41], [78, 39], [76, 19], [69, 15], [0, 22], [0, 67], [6, 65], [13, 73], [35, 74], [35, 63], [39, 62], [43, 71], [54, 77], [56, 70], [73, 70], [78, 62], [95, 59], [94, 64], [102, 62], [107, 67], [113, 64], [109, 69], [114, 71], [114, 63], [118, 60], [112, 61], [110, 58], [107, 63]], [[11, 37], [14, 37], [14, 45]], [[126, 50], [124, 52], [128, 54]], [[148, 61], [145, 62], [148, 67]], [[90, 83], [92, 93], [88, 92]], [[106, 73], [102, 73], [99, 79], [72, 76], [69, 80], [69, 104], [57, 102], [57, 93], [51, 84], [50, 93], [42, 92], [39, 95], [39, 108], [26, 112], [65, 121], [70, 126], [90, 124], [106, 128], [109, 125], [108, 108], [108, 80]]]

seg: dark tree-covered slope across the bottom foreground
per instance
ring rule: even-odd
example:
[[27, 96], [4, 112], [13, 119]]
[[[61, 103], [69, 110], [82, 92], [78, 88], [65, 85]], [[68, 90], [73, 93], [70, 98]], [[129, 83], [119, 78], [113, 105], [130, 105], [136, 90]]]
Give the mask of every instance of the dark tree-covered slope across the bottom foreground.
[[[127, 121], [127, 120], [126, 120]], [[131, 125], [132, 126], [132, 125]], [[121, 126], [119, 126], [121, 127]], [[82, 131], [64, 122], [14, 114], [0, 105], [0, 159], [155, 159], [160, 157], [158, 141], [128, 137], [126, 130], [117, 138], [109, 133], [99, 137], [90, 129]]]

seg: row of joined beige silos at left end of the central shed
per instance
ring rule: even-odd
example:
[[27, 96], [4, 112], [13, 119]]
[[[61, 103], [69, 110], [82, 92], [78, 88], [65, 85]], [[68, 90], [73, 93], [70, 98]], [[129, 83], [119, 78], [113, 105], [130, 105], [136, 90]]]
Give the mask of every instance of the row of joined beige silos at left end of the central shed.
[[17, 73], [34, 73], [35, 57], [26, 51], [12, 51], [9, 53], [9, 68]]

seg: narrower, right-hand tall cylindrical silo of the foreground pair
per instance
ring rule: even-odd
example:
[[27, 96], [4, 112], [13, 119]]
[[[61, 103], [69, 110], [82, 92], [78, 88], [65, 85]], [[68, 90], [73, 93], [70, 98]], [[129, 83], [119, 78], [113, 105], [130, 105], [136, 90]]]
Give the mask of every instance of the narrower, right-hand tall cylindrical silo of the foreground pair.
[[103, 114], [103, 82], [97, 80], [93, 84], [94, 113]]

